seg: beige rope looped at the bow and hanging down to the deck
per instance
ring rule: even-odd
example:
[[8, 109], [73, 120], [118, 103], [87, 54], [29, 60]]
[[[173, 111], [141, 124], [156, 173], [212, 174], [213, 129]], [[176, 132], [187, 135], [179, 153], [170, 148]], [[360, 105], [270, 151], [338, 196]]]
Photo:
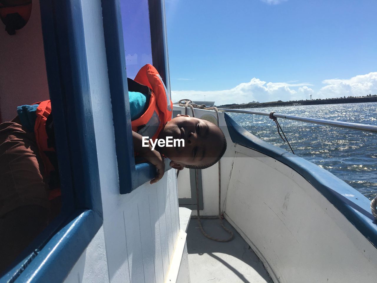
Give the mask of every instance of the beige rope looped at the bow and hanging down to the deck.
[[[184, 102], [184, 103], [183, 103]], [[190, 104], [191, 102], [191, 104]], [[185, 115], [187, 115], [187, 108], [188, 106], [190, 106], [191, 108], [191, 112], [192, 112], [192, 116], [195, 117], [195, 113], [194, 113], [194, 108], [198, 108], [198, 109], [205, 109], [205, 110], [214, 110], [216, 111], [216, 116], [217, 116], [217, 125], [219, 125], [219, 111], [216, 107], [205, 107], [204, 104], [202, 105], [197, 105], [197, 104], [193, 104], [193, 102], [189, 99], [181, 99], [179, 100], [178, 102], [179, 106], [183, 106], [185, 107]], [[222, 226], [222, 228], [227, 231], [229, 234], [230, 234], [230, 237], [227, 238], [227, 239], [219, 239], [219, 238], [214, 238], [214, 237], [211, 237], [210, 235], [208, 235], [204, 229], [203, 229], [203, 226], [202, 226], [202, 222], [200, 220], [200, 213], [199, 213], [199, 181], [198, 181], [198, 169], [195, 169], [195, 186], [196, 186], [196, 213], [197, 213], [197, 219], [198, 219], [198, 223], [199, 223], [199, 227], [200, 227], [200, 230], [202, 231], [203, 235], [205, 237], [207, 237], [208, 239], [211, 239], [211, 240], [215, 240], [215, 241], [218, 241], [218, 242], [228, 242], [230, 241], [231, 239], [233, 239], [233, 232], [230, 231], [228, 228], [226, 228], [224, 226], [224, 224], [222, 223], [222, 215], [221, 215], [221, 160], [218, 161], [218, 165], [219, 165], [219, 220], [220, 220], [220, 224]], [[177, 172], [178, 173], [178, 172]], [[178, 176], [178, 174], [177, 174]], [[216, 216], [204, 216], [202, 217], [202, 219], [216, 219], [217, 217]]]

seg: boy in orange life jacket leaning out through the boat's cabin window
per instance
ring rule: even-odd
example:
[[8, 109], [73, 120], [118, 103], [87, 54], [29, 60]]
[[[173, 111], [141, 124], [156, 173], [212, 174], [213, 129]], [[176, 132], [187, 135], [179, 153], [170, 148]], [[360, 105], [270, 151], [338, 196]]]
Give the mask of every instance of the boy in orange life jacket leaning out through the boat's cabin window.
[[[128, 84], [135, 152], [157, 169], [151, 183], [164, 174], [163, 157], [178, 170], [207, 168], [221, 158], [226, 149], [221, 129], [187, 115], [171, 119], [172, 102], [153, 66], [144, 66]], [[51, 104], [24, 105], [17, 112], [11, 122], [0, 124], [0, 273], [60, 212], [61, 205]], [[143, 135], [183, 139], [185, 146], [143, 147]]]

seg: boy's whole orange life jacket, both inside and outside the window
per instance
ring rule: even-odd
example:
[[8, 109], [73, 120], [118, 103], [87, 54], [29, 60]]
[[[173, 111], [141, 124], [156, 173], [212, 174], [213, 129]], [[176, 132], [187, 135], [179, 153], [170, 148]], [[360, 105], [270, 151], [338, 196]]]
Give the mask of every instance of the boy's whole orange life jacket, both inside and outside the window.
[[[149, 87], [151, 95], [147, 110], [141, 117], [131, 122], [132, 131], [155, 139], [164, 125], [172, 119], [173, 103], [160, 75], [152, 65], [147, 64], [141, 68], [135, 77], [135, 82]], [[51, 153], [55, 152], [54, 147], [49, 145], [46, 131], [46, 121], [51, 114], [50, 100], [39, 102], [36, 114], [37, 119], [34, 125], [35, 140], [43, 160], [45, 174], [49, 178], [51, 172], [57, 170], [48, 157], [48, 155], [51, 156]], [[60, 189], [52, 189], [49, 192], [49, 199], [52, 200], [59, 195]]]

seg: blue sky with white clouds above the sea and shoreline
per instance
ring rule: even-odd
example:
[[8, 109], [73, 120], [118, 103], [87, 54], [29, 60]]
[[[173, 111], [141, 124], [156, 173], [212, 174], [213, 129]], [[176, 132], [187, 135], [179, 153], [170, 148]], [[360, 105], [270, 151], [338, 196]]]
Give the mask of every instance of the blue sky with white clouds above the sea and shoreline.
[[375, 0], [165, 0], [165, 7], [173, 102], [377, 94]]

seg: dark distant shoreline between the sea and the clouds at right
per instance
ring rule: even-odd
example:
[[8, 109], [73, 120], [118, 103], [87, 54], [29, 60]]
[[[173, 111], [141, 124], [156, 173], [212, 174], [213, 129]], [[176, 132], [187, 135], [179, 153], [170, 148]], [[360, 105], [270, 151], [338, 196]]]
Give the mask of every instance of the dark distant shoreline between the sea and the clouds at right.
[[263, 103], [246, 103], [246, 104], [225, 104], [217, 106], [217, 108], [243, 109], [243, 108], [259, 108], [273, 106], [298, 106], [298, 105], [321, 105], [321, 104], [338, 104], [338, 103], [360, 103], [360, 102], [377, 102], [377, 95], [366, 97], [350, 97], [350, 98], [330, 98], [318, 100], [294, 100], [294, 101], [273, 101]]

